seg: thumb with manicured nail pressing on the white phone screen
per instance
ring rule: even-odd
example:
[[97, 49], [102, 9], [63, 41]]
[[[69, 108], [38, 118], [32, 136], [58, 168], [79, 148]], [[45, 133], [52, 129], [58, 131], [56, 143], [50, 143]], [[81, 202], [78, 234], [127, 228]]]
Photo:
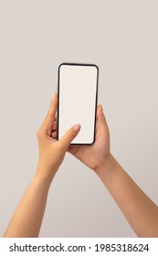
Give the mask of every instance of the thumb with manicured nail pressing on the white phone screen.
[[68, 145], [72, 142], [72, 140], [78, 135], [80, 130], [80, 124], [75, 124], [73, 127], [71, 127], [67, 133], [65, 133], [62, 138], [58, 141], [62, 146], [64, 146], [66, 149], [68, 148]]

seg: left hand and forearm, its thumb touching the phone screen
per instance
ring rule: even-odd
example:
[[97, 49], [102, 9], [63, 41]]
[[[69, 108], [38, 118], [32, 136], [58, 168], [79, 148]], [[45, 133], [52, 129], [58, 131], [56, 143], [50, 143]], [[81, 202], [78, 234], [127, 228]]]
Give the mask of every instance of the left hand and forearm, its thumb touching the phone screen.
[[[64, 159], [68, 145], [79, 133], [80, 125], [77, 124], [70, 128], [60, 141], [51, 136], [52, 130], [57, 129], [57, 102], [58, 96], [55, 94], [47, 117], [37, 132], [39, 145], [37, 172], [16, 208], [4, 237], [38, 236], [46, 208], [48, 189]], [[53, 132], [52, 135], [57, 136], [57, 132]]]

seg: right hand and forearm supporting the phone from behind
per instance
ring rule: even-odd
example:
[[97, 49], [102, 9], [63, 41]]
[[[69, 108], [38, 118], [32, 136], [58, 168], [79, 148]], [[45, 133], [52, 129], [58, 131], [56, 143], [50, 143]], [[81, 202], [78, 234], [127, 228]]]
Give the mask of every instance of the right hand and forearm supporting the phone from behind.
[[138, 237], [158, 237], [158, 208], [111, 155], [110, 131], [101, 106], [95, 143], [68, 151], [100, 177]]

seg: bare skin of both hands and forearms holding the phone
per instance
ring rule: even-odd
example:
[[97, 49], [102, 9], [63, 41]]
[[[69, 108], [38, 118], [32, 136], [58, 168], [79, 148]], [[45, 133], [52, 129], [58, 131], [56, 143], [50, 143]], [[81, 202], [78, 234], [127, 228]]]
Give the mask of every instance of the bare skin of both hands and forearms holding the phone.
[[[79, 124], [57, 141], [57, 103], [54, 95], [47, 117], [37, 132], [39, 161], [37, 172], [4, 237], [37, 237], [44, 216], [50, 184], [66, 152], [89, 166], [101, 179], [139, 237], [158, 237], [158, 208], [111, 155], [110, 131], [101, 105], [97, 109], [96, 140], [91, 146], [68, 146], [79, 133]], [[52, 132], [53, 130], [53, 132]]]

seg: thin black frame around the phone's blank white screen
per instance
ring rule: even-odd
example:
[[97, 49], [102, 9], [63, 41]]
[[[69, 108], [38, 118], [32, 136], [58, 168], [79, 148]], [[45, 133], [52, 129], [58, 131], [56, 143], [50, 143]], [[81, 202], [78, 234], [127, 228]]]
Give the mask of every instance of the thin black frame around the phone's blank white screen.
[[[99, 67], [95, 64], [88, 64], [88, 63], [69, 63], [69, 62], [63, 62], [58, 66], [58, 112], [57, 112], [57, 117], [59, 117], [59, 76], [60, 76], [60, 67], [62, 65], [68, 65], [68, 66], [88, 66], [88, 67], [95, 67], [97, 69], [97, 80], [96, 80], [96, 97], [95, 97], [95, 121], [94, 121], [94, 135], [93, 135], [93, 141], [90, 144], [69, 144], [70, 146], [75, 146], [75, 145], [91, 145], [94, 144], [95, 142], [95, 136], [96, 136], [96, 122], [97, 122], [97, 104], [98, 104], [98, 84], [99, 84]], [[57, 139], [58, 139], [58, 127], [59, 127], [59, 122], [57, 120]]]

